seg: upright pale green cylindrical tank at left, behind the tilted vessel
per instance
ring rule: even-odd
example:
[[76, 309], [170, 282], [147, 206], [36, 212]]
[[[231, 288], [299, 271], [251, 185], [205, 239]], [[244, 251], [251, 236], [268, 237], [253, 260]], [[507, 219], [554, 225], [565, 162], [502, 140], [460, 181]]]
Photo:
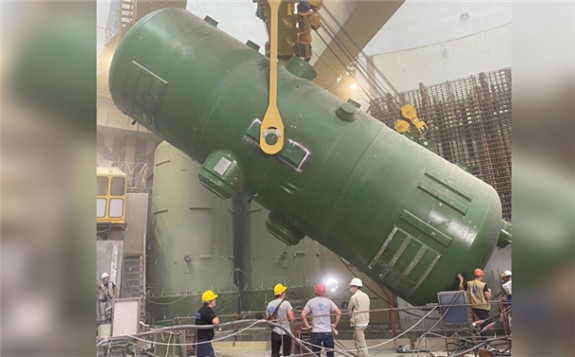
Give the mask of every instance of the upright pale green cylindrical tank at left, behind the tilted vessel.
[[[230, 202], [197, 181], [200, 165], [166, 142], [156, 148], [147, 244], [148, 297], [234, 292]], [[181, 315], [180, 315], [181, 316]]]

